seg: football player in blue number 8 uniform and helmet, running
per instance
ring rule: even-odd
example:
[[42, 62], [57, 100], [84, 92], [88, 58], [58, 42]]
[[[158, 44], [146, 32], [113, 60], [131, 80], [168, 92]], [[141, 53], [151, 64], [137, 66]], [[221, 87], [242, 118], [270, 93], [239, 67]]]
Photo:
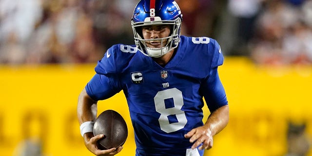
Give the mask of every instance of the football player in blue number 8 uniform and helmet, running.
[[[116, 44], [95, 67], [78, 98], [86, 147], [97, 156], [93, 136], [97, 101], [123, 91], [135, 131], [136, 156], [203, 156], [225, 128], [229, 107], [218, 66], [220, 45], [208, 37], [180, 35], [182, 13], [174, 0], [140, 0], [131, 20], [136, 45]], [[210, 116], [203, 123], [205, 99]]]

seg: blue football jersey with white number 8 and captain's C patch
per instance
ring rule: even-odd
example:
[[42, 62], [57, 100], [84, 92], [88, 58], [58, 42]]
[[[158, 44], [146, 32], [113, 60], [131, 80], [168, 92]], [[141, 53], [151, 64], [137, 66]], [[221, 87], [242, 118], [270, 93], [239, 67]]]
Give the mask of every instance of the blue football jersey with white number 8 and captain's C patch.
[[103, 100], [123, 90], [136, 156], [185, 156], [193, 143], [184, 134], [203, 125], [203, 98], [210, 112], [228, 104], [217, 72], [223, 60], [217, 41], [206, 37], [181, 36], [176, 55], [164, 67], [135, 45], [117, 44], [98, 61], [86, 91]]

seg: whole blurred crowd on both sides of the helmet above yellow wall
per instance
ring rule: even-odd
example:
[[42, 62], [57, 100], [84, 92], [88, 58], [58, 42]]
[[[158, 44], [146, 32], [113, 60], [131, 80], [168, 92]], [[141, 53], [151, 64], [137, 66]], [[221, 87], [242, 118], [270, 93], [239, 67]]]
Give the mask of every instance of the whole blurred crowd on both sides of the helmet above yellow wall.
[[[88, 63], [134, 44], [138, 0], [0, 0], [0, 64]], [[312, 0], [176, 0], [182, 35], [217, 39], [226, 56], [312, 63]]]

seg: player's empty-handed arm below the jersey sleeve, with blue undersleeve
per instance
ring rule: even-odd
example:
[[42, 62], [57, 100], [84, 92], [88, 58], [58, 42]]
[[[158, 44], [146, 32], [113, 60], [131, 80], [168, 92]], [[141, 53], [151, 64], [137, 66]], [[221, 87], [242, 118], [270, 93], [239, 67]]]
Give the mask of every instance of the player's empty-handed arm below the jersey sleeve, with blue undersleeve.
[[[217, 74], [217, 72], [216, 72]], [[210, 149], [213, 147], [213, 137], [222, 131], [229, 121], [229, 106], [224, 88], [216, 75], [213, 81], [205, 84], [207, 87], [204, 97], [211, 112], [203, 126], [192, 129], [185, 135], [194, 143], [192, 148]]]

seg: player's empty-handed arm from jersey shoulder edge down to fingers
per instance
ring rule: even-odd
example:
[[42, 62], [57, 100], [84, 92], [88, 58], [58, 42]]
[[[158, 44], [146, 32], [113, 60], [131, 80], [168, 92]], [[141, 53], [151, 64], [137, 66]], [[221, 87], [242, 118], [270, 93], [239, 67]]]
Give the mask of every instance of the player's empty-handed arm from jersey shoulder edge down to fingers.
[[204, 95], [208, 108], [211, 112], [203, 126], [191, 130], [185, 135], [194, 143], [192, 148], [210, 149], [213, 146], [213, 137], [221, 132], [229, 121], [229, 106], [220, 81], [217, 68], [223, 63], [223, 55], [219, 44], [215, 41], [214, 56], [212, 57], [211, 70], [209, 77], [202, 83], [201, 92]]

